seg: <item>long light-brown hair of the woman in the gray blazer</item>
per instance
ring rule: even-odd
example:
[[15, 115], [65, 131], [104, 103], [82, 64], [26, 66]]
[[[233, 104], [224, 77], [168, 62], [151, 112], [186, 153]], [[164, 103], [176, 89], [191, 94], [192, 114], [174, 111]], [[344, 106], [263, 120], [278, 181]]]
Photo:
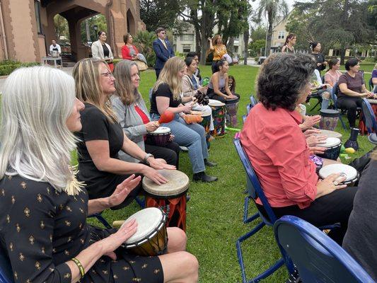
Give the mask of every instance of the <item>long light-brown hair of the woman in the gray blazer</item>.
[[[119, 96], [124, 105], [130, 105], [141, 98], [137, 88], [132, 86], [131, 67], [137, 64], [130, 60], [122, 60], [117, 63], [114, 70], [115, 96]], [[138, 69], [139, 71], [139, 69]]]

